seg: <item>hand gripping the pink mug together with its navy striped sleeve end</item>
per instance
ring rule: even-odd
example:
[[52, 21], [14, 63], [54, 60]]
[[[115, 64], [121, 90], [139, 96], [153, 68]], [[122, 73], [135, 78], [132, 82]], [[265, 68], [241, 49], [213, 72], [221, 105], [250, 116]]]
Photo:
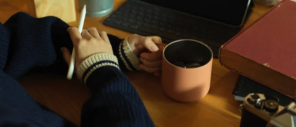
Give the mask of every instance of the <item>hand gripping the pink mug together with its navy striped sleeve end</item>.
[[[154, 73], [155, 76], [161, 76], [162, 51], [155, 43], [162, 43], [161, 38], [157, 36], [140, 36], [133, 34], [119, 39], [108, 35], [112, 45], [113, 53], [118, 58], [119, 67], [129, 71], [144, 70], [148, 73]], [[148, 51], [150, 51], [148, 53]]]

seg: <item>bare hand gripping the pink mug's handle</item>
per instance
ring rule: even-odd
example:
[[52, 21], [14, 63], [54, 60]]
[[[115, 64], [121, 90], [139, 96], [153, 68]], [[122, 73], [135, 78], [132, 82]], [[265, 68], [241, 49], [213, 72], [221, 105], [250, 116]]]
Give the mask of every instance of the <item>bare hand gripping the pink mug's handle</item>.
[[148, 73], [154, 73], [155, 76], [161, 76], [162, 51], [159, 48], [163, 47], [156, 45], [157, 43], [162, 43], [161, 38], [158, 36], [144, 37], [133, 34], [128, 37], [128, 43], [142, 62], [140, 68]]

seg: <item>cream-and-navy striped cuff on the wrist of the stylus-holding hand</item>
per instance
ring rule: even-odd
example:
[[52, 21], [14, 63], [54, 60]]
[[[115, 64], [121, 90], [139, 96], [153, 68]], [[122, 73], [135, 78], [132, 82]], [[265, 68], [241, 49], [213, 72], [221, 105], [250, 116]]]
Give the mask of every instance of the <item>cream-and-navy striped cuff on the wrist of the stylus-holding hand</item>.
[[110, 53], [97, 53], [89, 56], [78, 67], [77, 78], [85, 84], [92, 72], [104, 66], [113, 66], [119, 69], [117, 57]]

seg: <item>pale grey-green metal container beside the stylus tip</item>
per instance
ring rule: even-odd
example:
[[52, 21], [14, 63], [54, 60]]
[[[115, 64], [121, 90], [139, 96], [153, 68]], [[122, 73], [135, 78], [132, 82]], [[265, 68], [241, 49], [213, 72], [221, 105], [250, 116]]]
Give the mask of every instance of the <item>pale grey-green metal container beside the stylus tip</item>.
[[103, 17], [113, 10], [114, 0], [78, 0], [79, 9], [86, 5], [86, 16]]

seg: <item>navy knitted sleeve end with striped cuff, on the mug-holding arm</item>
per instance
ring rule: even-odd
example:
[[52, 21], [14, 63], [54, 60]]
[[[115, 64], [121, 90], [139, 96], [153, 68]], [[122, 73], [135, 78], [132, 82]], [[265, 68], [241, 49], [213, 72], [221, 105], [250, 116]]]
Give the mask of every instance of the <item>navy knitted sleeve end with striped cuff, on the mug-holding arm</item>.
[[113, 35], [108, 35], [113, 53], [118, 58], [120, 69], [127, 69], [129, 71], [140, 71], [140, 60], [131, 49], [128, 43], [128, 37], [124, 40], [119, 39]]

